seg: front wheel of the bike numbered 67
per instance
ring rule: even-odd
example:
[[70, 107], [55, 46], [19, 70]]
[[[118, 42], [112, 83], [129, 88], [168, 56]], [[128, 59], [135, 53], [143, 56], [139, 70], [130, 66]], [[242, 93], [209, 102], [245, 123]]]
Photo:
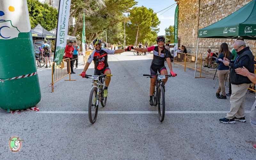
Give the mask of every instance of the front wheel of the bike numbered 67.
[[89, 97], [89, 106], [88, 106], [88, 115], [89, 121], [93, 124], [96, 121], [97, 114], [98, 114], [98, 105], [96, 104], [97, 101], [97, 88], [93, 87]]

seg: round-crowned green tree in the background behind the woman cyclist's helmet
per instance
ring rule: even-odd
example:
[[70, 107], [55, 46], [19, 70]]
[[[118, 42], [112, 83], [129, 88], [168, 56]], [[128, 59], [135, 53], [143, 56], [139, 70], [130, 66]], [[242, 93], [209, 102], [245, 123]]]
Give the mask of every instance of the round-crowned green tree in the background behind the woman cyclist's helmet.
[[128, 14], [130, 22], [127, 28], [128, 44], [137, 45], [139, 42], [153, 42], [159, 32], [157, 26], [160, 24], [156, 13], [146, 7], [133, 7]]

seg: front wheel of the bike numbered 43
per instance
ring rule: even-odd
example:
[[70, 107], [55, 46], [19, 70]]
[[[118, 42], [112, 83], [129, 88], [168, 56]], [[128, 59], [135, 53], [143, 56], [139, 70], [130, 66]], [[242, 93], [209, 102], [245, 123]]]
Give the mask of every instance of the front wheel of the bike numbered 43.
[[165, 113], [165, 97], [164, 97], [164, 88], [163, 86], [159, 86], [158, 89], [158, 117], [161, 122], [164, 120]]

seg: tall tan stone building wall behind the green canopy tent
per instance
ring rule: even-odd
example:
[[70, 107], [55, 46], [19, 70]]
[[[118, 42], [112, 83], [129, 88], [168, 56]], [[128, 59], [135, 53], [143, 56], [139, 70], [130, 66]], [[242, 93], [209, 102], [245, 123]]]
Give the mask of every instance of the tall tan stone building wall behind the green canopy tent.
[[[196, 54], [198, 29], [207, 27], [237, 11], [252, 0], [177, 0], [179, 4], [179, 46], [184, 45], [188, 53]], [[220, 44], [226, 42], [230, 48], [236, 39], [199, 38], [198, 54], [206, 57], [206, 50], [219, 52]], [[253, 55], [256, 55], [256, 41], [245, 40]]]

